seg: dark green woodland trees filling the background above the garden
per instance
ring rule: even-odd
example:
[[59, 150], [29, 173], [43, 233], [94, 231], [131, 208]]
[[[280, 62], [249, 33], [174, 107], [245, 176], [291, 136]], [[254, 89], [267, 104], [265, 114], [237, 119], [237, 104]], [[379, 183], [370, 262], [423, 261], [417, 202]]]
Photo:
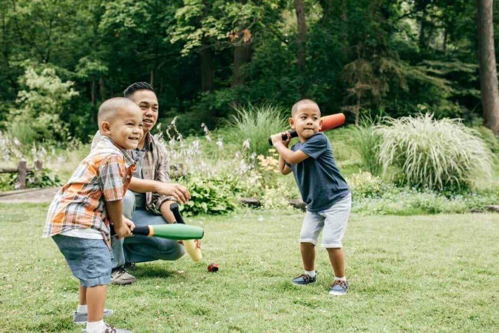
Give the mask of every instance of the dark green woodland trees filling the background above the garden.
[[16, 100], [27, 105], [21, 91], [39, 90], [25, 85], [26, 63], [74, 82], [78, 96], [43, 112], [83, 140], [99, 103], [135, 81], [154, 86], [160, 121], [179, 116], [185, 132], [216, 126], [234, 105], [288, 108], [303, 91], [351, 122], [370, 109], [481, 115], [474, 1], [298, 2], [301, 35], [294, 0], [0, 0], [0, 127]]

